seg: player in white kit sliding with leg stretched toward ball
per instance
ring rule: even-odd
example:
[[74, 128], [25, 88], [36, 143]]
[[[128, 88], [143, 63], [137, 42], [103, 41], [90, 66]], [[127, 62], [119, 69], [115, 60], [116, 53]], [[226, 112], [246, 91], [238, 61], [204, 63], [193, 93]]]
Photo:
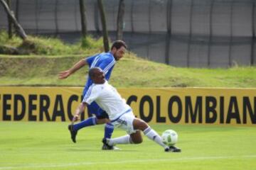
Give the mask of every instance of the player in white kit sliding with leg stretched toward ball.
[[102, 69], [99, 67], [91, 68], [89, 76], [92, 79], [93, 84], [85, 94], [80, 106], [76, 109], [73, 123], [78, 120], [80, 113], [85, 110], [85, 107], [95, 101], [100, 108], [107, 112], [109, 120], [114, 127], [121, 128], [128, 134], [113, 139], [105, 138], [102, 140], [105, 145], [111, 147], [117, 144], [139, 144], [142, 142], [142, 135], [140, 133], [140, 130], [142, 130], [146, 137], [149, 137], [150, 140], [153, 140], [161, 147], [164, 147], [165, 152], [181, 152], [181, 149], [177, 147], [168, 147], [164, 145], [161, 137], [155, 130], [150, 128], [144, 120], [135, 118], [132, 113], [132, 108], [127, 105], [117, 90], [108, 84]]

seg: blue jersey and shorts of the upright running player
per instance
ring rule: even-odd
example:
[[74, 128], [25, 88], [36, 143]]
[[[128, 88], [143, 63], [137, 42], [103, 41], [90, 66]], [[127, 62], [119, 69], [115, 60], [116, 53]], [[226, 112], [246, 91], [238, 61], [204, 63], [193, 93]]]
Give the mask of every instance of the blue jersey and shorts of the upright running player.
[[[87, 57], [85, 59], [89, 67], [100, 67], [102, 71], [105, 73], [105, 79], [107, 81], [110, 79], [110, 75], [112, 73], [112, 69], [114, 68], [115, 60], [114, 56], [110, 52], [102, 52], [100, 54], [94, 55], [92, 57]], [[85, 89], [82, 92], [82, 96], [84, 97], [87, 93], [87, 90], [92, 85], [92, 79], [90, 77], [87, 78], [87, 82], [85, 84]], [[97, 103], [93, 102], [90, 106], [87, 106], [90, 113], [95, 114], [96, 116], [102, 115], [104, 111], [97, 106]]]

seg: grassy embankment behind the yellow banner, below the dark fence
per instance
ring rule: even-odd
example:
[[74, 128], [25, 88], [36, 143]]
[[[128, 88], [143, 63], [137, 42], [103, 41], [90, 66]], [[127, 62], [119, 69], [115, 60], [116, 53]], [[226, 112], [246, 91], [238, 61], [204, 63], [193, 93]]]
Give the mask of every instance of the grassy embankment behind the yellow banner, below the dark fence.
[[[102, 51], [101, 40], [85, 40], [84, 47], [81, 43], [65, 45], [54, 38], [31, 37], [30, 40], [36, 42], [37, 48], [31, 52], [33, 55], [0, 55], [1, 86], [83, 86], [87, 67], [65, 80], [58, 79], [58, 72], [69, 69], [83, 57]], [[0, 36], [0, 43], [22, 46], [18, 38], [8, 40], [4, 33]], [[256, 87], [256, 67], [179, 68], [142, 60], [127, 52], [117, 62], [110, 83], [117, 87]]]

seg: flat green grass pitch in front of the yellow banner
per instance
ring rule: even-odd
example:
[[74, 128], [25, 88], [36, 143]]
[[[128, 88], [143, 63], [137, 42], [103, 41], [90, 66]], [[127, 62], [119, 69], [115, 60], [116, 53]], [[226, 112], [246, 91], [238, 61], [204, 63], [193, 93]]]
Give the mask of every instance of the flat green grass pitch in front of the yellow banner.
[[[255, 127], [151, 125], [178, 132], [181, 153], [166, 153], [144, 136], [140, 145], [102, 151], [103, 126], [70, 140], [68, 123], [0, 123], [0, 169], [255, 169]], [[115, 130], [113, 137], [124, 135]]]

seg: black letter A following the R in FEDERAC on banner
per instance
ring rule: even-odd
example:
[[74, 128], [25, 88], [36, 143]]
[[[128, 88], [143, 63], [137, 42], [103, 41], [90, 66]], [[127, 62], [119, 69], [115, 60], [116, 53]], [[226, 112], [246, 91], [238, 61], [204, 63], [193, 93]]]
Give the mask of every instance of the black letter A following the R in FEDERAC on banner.
[[[58, 108], [60, 108], [60, 109], [58, 109]], [[65, 121], [63, 99], [60, 94], [56, 95], [56, 98], [55, 98], [52, 120], [55, 121], [57, 116], [60, 116], [61, 121], [63, 121], [63, 122]]]

